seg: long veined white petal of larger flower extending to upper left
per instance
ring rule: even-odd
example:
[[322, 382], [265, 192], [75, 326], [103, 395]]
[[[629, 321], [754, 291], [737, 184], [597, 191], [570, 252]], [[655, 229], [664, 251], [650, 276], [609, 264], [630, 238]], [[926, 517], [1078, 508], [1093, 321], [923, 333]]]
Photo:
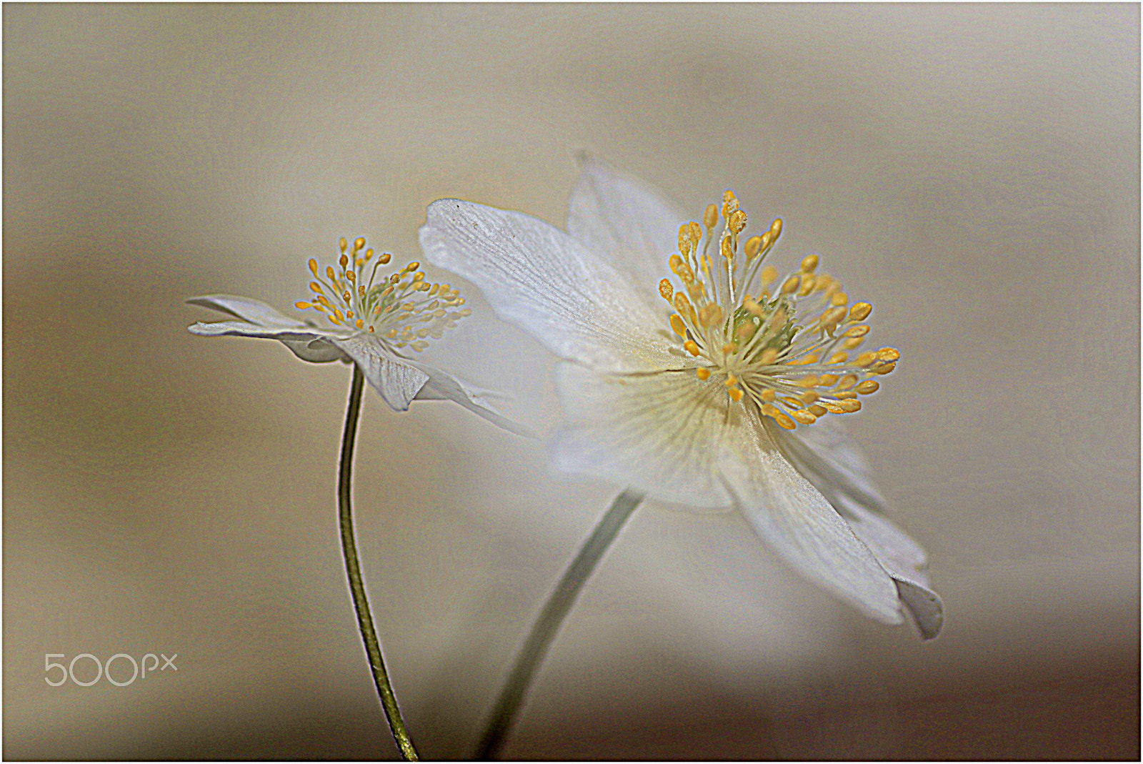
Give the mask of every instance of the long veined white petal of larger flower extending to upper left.
[[421, 247], [429, 261], [475, 284], [502, 318], [557, 355], [613, 369], [673, 358], [663, 317], [563, 231], [459, 199], [434, 201], [426, 217]]

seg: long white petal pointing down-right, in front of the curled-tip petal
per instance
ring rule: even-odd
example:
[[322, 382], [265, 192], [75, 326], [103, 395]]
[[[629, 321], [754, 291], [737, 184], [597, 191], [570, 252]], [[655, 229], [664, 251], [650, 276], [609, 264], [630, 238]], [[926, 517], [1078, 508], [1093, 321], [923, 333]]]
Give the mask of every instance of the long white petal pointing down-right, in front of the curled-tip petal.
[[894, 579], [849, 525], [782, 455], [762, 424], [720, 446], [719, 469], [758, 535], [799, 573], [870, 618], [901, 623]]

